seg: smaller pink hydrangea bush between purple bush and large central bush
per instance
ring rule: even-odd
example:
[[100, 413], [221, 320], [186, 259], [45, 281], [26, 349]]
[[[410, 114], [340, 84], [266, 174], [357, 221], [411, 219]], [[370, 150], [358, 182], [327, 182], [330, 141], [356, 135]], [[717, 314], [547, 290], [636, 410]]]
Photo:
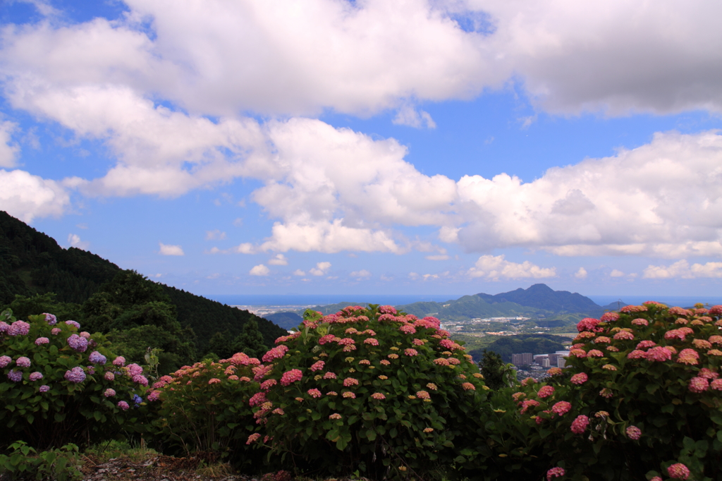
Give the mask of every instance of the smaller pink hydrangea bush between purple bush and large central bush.
[[252, 370], [260, 364], [239, 352], [219, 363], [206, 360], [159, 378], [147, 392], [157, 415], [152, 429], [157, 447], [168, 454], [230, 454], [237, 465], [258, 461], [245, 449], [245, 441], [258, 430], [249, 399], [258, 391]]

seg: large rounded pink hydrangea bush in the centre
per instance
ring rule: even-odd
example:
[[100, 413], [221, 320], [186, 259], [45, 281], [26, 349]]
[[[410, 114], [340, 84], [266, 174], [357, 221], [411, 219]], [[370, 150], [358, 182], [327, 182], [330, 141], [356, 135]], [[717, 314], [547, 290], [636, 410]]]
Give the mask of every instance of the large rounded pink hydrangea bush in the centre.
[[[263, 433], [248, 438], [295, 466], [380, 479], [450, 467], [488, 416], [487, 387], [439, 321], [391, 306], [307, 311], [253, 368]], [[469, 423], [474, 419], [474, 423]]]

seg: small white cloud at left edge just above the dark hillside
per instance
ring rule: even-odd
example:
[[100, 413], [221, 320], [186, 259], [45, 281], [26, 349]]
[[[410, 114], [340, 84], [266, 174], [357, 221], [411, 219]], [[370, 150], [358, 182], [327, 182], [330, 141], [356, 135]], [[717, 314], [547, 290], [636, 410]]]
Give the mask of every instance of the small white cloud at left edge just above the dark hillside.
[[0, 169], [0, 209], [23, 222], [59, 217], [70, 207], [70, 196], [56, 181], [25, 170]]

